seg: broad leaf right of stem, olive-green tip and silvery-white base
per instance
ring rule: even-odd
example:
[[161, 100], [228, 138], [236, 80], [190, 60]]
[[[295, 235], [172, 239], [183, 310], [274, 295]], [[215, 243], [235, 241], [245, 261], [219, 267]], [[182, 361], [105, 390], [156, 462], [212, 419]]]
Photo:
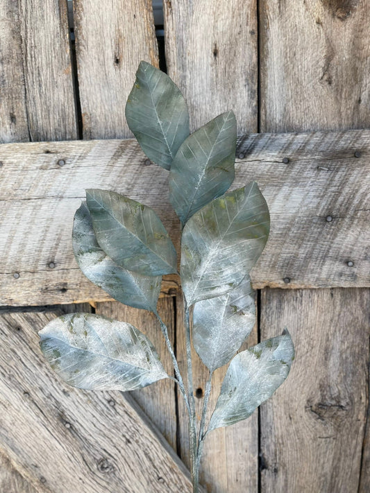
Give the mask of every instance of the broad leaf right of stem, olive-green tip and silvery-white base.
[[255, 182], [196, 212], [181, 241], [181, 284], [187, 304], [224, 295], [240, 284], [264, 249], [269, 223], [267, 203]]

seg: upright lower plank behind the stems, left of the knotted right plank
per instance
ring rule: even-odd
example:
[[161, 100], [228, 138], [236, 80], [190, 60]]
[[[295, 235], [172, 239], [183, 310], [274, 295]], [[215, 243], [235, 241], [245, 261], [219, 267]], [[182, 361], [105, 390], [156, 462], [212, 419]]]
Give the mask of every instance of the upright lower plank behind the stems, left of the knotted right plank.
[[[177, 323], [177, 357], [180, 372], [187, 382], [187, 363], [185, 331], [183, 328], [183, 297], [176, 297]], [[257, 326], [249, 336], [242, 349], [257, 343]], [[192, 349], [193, 380], [196, 397], [196, 419], [199, 426], [203, 406], [203, 392], [208, 370], [199, 356]], [[227, 365], [215, 371], [212, 378], [212, 393], [207, 413], [207, 424], [215, 409], [221, 384], [226, 374]], [[180, 437], [180, 458], [190, 467], [187, 410], [178, 392], [178, 434]], [[249, 420], [239, 422], [227, 428], [212, 431], [205, 439], [201, 460], [201, 483], [209, 493], [245, 493], [258, 491], [258, 413]]]

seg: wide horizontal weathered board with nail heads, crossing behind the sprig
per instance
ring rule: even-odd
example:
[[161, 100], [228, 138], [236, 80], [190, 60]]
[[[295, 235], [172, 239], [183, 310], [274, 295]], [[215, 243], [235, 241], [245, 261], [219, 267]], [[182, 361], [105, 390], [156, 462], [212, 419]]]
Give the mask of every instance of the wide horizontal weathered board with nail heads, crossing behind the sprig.
[[[271, 209], [254, 286], [370, 286], [370, 131], [251, 135], [242, 153], [233, 187], [257, 180]], [[133, 140], [3, 144], [0, 161], [1, 304], [108, 299], [72, 254], [72, 219], [88, 187], [150, 205], [179, 246], [167, 171], [146, 166]], [[177, 286], [171, 277], [164, 290]]]

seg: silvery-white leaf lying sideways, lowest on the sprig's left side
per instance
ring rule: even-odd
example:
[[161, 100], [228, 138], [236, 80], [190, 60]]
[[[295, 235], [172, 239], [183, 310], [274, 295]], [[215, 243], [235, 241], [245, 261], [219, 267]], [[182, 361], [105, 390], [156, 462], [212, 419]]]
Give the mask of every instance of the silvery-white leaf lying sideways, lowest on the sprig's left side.
[[39, 334], [44, 356], [70, 386], [126, 391], [168, 377], [150, 340], [126, 322], [70, 313]]

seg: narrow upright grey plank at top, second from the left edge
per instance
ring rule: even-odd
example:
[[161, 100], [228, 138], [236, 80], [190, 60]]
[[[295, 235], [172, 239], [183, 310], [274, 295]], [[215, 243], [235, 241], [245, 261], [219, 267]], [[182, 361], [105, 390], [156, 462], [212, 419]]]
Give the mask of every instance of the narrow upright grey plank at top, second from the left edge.
[[77, 138], [67, 2], [18, 0], [29, 137]]

